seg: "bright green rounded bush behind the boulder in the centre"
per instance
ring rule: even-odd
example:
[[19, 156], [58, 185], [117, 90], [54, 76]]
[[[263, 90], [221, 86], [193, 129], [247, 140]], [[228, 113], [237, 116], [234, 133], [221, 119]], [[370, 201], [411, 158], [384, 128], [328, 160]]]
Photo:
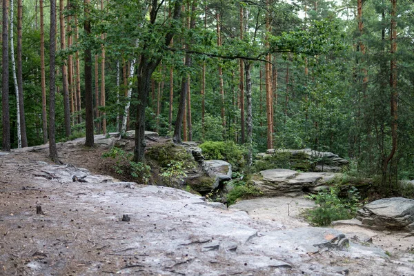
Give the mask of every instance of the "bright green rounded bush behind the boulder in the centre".
[[242, 170], [246, 164], [246, 148], [235, 144], [234, 141], [206, 141], [200, 148], [206, 159], [228, 161], [235, 171]]

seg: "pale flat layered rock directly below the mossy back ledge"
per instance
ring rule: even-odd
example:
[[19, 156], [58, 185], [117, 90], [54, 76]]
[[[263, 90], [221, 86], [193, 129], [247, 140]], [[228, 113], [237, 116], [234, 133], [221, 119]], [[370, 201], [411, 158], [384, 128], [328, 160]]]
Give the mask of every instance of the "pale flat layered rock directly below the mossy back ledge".
[[318, 186], [324, 186], [326, 181], [335, 177], [331, 172], [295, 172], [295, 170], [274, 169], [262, 170], [256, 174], [253, 184], [262, 191], [264, 196], [272, 197], [303, 191], [311, 191]]

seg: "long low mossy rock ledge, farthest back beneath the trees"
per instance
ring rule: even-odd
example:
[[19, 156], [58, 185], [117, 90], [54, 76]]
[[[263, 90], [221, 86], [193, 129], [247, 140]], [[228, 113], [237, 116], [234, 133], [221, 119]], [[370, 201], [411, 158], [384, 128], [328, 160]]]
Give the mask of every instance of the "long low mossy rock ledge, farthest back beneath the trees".
[[340, 172], [349, 161], [332, 152], [319, 152], [311, 148], [302, 150], [270, 149], [259, 153], [255, 166], [259, 170], [292, 168], [313, 172]]

